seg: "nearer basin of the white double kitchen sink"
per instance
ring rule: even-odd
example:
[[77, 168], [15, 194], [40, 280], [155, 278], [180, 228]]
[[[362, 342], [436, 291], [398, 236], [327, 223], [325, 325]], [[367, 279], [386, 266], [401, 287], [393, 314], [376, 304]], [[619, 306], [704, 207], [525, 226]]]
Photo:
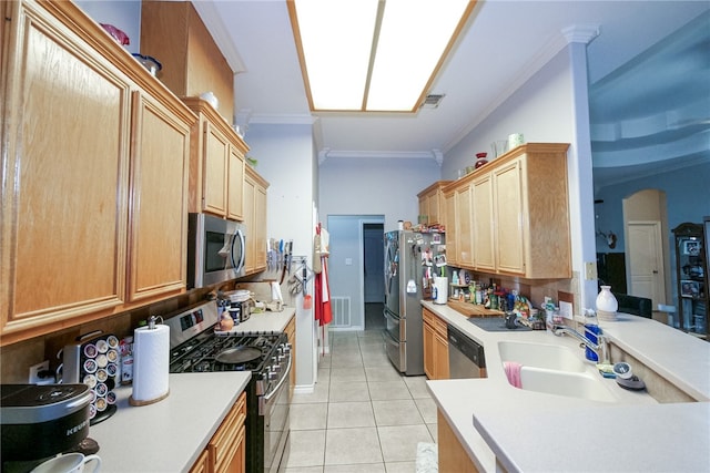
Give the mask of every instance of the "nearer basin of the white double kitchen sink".
[[572, 373], [532, 367], [520, 368], [521, 389], [547, 394], [588, 399], [590, 401], [616, 402], [611, 391], [590, 373]]

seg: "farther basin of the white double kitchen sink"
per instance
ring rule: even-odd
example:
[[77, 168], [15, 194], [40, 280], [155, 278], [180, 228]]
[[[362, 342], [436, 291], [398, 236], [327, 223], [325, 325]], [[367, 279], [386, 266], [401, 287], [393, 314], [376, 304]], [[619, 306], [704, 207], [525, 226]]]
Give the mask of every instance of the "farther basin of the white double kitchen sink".
[[525, 367], [544, 368], [548, 370], [577, 372], [587, 370], [587, 364], [579, 353], [567, 347], [545, 343], [529, 343], [518, 341], [499, 341], [498, 352], [501, 361], [515, 361]]

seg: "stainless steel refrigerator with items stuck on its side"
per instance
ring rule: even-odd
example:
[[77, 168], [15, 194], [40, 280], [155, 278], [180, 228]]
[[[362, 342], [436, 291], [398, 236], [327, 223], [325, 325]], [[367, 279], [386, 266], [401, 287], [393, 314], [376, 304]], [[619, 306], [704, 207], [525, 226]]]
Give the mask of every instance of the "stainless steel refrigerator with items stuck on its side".
[[424, 374], [422, 299], [427, 281], [445, 265], [444, 234], [394, 230], [385, 234], [385, 346], [406, 376]]

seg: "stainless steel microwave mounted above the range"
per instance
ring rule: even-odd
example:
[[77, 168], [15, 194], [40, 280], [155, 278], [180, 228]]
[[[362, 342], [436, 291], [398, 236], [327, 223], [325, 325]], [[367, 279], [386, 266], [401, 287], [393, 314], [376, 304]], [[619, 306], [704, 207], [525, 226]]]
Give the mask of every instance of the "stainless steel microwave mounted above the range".
[[190, 214], [187, 289], [212, 286], [245, 275], [245, 226], [207, 214]]

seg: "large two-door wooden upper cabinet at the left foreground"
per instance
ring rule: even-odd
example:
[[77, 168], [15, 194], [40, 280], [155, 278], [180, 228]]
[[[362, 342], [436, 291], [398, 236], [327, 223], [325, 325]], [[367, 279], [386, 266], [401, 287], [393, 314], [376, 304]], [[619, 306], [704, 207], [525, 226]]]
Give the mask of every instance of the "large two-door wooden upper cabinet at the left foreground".
[[194, 114], [74, 3], [1, 8], [1, 345], [184, 291]]

